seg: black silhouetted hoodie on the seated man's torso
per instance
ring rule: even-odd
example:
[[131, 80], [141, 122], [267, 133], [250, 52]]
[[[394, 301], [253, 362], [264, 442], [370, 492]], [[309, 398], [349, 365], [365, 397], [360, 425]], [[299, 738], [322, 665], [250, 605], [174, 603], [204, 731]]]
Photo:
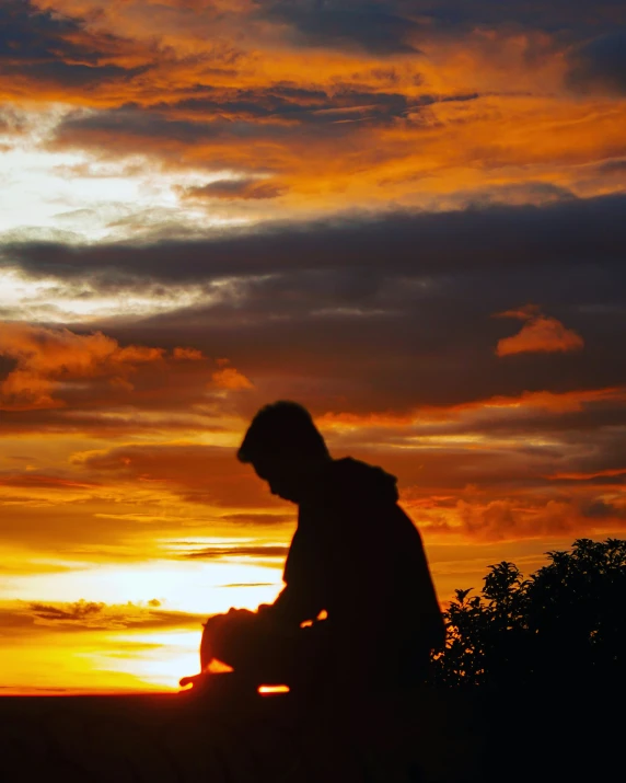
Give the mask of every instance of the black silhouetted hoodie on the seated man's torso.
[[430, 650], [443, 623], [421, 537], [397, 505], [397, 480], [352, 458], [333, 460], [300, 504], [275, 614], [324, 621], [331, 636]]

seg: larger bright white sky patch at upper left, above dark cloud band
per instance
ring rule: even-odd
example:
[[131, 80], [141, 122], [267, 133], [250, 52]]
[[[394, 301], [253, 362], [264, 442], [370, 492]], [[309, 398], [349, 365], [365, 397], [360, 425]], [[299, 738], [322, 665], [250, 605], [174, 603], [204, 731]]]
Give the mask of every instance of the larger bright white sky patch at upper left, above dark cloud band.
[[85, 152], [50, 149], [55, 129], [70, 112], [57, 106], [25, 115], [28, 133], [0, 138], [0, 180], [11, 188], [0, 211], [2, 241], [119, 241], [156, 231], [164, 222], [171, 226], [170, 237], [247, 222], [243, 216], [209, 214], [181, 198], [184, 188], [236, 181], [236, 172], [170, 172], [137, 154], [107, 162]]

